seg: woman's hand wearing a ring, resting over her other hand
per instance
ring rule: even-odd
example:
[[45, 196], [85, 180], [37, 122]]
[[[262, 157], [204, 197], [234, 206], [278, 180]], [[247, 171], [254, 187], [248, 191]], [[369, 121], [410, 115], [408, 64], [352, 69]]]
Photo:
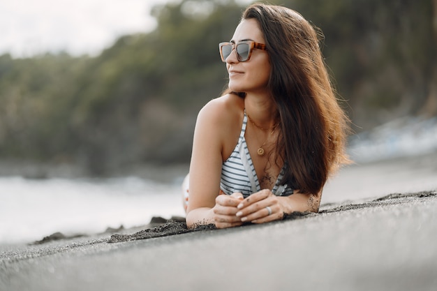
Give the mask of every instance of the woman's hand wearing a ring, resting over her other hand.
[[283, 219], [284, 209], [278, 197], [268, 189], [253, 193], [237, 205], [235, 216], [251, 223], [267, 223]]

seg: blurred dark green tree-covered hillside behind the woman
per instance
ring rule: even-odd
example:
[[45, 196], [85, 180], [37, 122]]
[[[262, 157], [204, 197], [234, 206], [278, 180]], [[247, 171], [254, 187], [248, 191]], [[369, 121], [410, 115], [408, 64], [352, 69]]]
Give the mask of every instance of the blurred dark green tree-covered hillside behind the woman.
[[[437, 0], [269, 1], [302, 13], [358, 133], [437, 115]], [[0, 158], [80, 165], [104, 175], [187, 163], [198, 110], [226, 84], [218, 43], [244, 7], [233, 0], [156, 6], [158, 27], [98, 57], [0, 56]], [[120, 20], [122, 21], [122, 20]]]

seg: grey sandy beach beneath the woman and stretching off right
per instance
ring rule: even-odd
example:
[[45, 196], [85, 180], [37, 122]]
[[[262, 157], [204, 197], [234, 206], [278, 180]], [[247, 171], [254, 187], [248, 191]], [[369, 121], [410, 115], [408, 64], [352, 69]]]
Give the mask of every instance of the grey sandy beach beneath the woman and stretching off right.
[[[0, 290], [435, 290], [435, 157], [355, 165], [327, 185], [318, 214], [265, 225], [188, 231], [174, 221], [3, 245]], [[401, 183], [405, 169], [420, 191]], [[353, 177], [355, 196], [344, 193]]]

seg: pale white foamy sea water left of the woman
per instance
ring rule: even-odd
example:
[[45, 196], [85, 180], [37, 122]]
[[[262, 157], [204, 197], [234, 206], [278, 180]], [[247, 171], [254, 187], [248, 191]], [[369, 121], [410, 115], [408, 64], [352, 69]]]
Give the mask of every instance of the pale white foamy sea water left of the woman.
[[54, 232], [92, 234], [107, 227], [145, 225], [153, 216], [184, 215], [177, 182], [0, 177], [0, 244], [27, 243]]

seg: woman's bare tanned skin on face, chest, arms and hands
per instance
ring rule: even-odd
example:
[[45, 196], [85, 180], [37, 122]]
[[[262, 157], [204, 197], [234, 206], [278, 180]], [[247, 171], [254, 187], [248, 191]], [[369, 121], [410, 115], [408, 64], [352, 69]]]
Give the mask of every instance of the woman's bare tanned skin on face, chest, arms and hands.
[[[265, 43], [258, 22], [242, 20], [231, 42], [253, 40]], [[246, 143], [255, 166], [255, 172], [263, 189], [246, 199], [242, 193], [218, 195], [221, 165], [238, 143], [244, 118], [244, 109], [251, 119], [262, 128], [272, 128], [279, 117], [276, 105], [267, 91], [270, 64], [268, 52], [253, 50], [249, 61], [240, 62], [235, 50], [226, 59], [229, 88], [246, 92], [245, 98], [227, 94], [211, 100], [200, 110], [195, 126], [193, 154], [190, 164], [190, 197], [186, 214], [188, 227], [214, 223], [218, 228], [235, 227], [246, 222], [267, 223], [283, 218], [292, 211], [318, 211], [321, 192], [302, 194], [295, 191], [288, 197], [278, 197], [271, 191], [283, 165], [276, 165], [274, 144], [277, 130], [261, 130], [250, 122], [246, 127]], [[272, 154], [258, 156], [260, 145]], [[272, 214], [266, 207], [272, 209]]]

